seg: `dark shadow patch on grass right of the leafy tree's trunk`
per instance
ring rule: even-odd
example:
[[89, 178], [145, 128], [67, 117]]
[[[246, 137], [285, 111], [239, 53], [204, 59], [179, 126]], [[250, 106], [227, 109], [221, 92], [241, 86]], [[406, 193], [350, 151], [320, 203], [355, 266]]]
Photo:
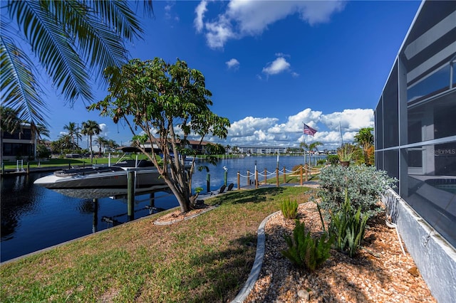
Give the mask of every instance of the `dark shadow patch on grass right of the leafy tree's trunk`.
[[275, 196], [282, 193], [285, 188], [268, 187], [252, 190], [232, 191], [217, 196], [214, 203], [222, 204], [242, 204], [242, 203], [260, 203], [267, 200], [267, 196]]

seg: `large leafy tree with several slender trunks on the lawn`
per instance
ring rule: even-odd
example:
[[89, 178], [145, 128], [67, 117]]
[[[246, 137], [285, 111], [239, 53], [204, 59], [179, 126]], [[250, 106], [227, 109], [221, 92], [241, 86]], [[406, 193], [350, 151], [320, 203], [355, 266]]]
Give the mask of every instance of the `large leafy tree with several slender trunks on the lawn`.
[[[185, 148], [189, 136], [197, 137], [199, 144], [207, 134], [226, 138], [229, 127], [227, 118], [209, 110], [212, 93], [205, 87], [204, 75], [185, 61], [170, 64], [155, 58], [130, 60], [120, 70], [108, 68], [105, 77], [109, 95], [90, 110], [100, 110], [100, 115], [112, 117], [115, 123], [125, 120], [136, 147], [157, 166], [181, 211], [190, 211], [192, 171], [187, 170], [183, 156], [171, 153], [190, 154]], [[162, 161], [157, 161], [154, 149], [145, 150], [145, 142], [157, 144]]]

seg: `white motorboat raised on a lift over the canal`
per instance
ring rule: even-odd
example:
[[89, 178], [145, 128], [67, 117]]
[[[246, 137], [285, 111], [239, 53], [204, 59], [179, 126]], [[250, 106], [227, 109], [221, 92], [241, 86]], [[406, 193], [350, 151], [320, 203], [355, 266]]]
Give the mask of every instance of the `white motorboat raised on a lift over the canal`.
[[152, 162], [124, 160], [112, 166], [90, 166], [55, 171], [34, 184], [74, 198], [104, 198], [127, 195], [128, 171], [135, 172], [135, 194], [168, 188]]

